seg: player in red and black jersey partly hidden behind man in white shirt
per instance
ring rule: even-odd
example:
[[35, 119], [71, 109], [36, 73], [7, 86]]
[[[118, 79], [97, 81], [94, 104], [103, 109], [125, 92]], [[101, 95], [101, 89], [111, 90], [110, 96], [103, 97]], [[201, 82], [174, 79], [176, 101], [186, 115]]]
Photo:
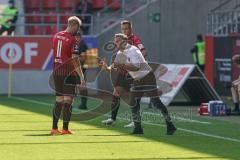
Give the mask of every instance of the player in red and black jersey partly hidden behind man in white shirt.
[[[128, 37], [128, 43], [131, 45], [136, 46], [144, 56], [144, 58], [147, 57], [147, 51], [144, 47], [144, 45], [141, 43], [140, 39], [132, 33], [132, 24], [130, 21], [124, 20], [121, 22], [121, 30], [122, 33], [125, 34]], [[117, 75], [116, 81], [113, 81], [114, 85], [114, 93], [113, 93], [113, 99], [112, 99], [112, 115], [111, 118], [107, 120], [103, 120], [102, 123], [111, 125], [116, 121], [118, 109], [120, 107], [120, 97], [124, 90], [129, 90], [132, 84], [132, 78], [127, 74], [127, 72], [124, 71]], [[126, 127], [132, 127], [133, 123], [126, 125]]]

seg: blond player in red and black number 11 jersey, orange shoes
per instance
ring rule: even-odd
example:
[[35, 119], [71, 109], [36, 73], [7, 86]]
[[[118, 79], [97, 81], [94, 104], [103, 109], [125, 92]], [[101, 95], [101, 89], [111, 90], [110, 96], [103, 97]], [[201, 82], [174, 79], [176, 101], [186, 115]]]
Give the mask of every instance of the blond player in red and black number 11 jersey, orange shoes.
[[[69, 17], [66, 30], [58, 32], [53, 37], [54, 68], [53, 79], [56, 91], [56, 103], [53, 108], [52, 135], [72, 134], [68, 129], [72, 112], [75, 86], [67, 85], [67, 81], [74, 81], [77, 75], [81, 79], [81, 87], [85, 81], [78, 56], [78, 43], [75, 34], [81, 26], [81, 20], [76, 16]], [[74, 82], [73, 82], [74, 83]], [[63, 130], [58, 130], [58, 120], [63, 112]]]

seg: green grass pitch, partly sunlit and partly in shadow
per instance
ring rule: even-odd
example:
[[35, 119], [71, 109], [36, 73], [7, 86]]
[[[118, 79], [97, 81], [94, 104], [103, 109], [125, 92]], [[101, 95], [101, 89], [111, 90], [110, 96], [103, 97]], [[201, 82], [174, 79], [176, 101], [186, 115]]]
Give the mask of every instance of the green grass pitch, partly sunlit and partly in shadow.
[[[151, 124], [143, 125], [143, 136], [133, 136], [129, 134], [131, 129], [123, 128], [126, 120], [118, 120], [111, 127], [102, 125], [101, 120], [106, 116], [87, 122], [72, 122], [70, 128], [75, 131], [74, 135], [50, 136], [54, 96], [19, 97], [23, 99], [0, 96], [2, 160], [239, 159], [240, 156], [240, 117], [199, 117], [195, 116], [196, 108], [170, 106], [170, 112], [178, 116], [190, 110], [193, 114], [188, 118], [194, 120], [174, 119], [179, 128], [174, 136], [165, 135], [164, 123], [157, 118], [147, 119]], [[97, 103], [90, 101], [89, 106], [94, 107]], [[121, 106], [120, 115], [127, 111], [126, 106]], [[143, 111], [153, 113], [146, 107]]]

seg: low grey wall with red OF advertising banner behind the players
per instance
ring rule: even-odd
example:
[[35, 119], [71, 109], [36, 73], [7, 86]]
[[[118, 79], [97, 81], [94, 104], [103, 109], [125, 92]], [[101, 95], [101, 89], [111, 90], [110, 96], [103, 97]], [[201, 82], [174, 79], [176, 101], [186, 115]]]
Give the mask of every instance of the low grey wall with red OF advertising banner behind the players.
[[[96, 50], [97, 43], [94, 36], [84, 36], [84, 40], [90, 51]], [[10, 58], [11, 53], [13, 58]], [[8, 93], [9, 84], [12, 86], [13, 94], [54, 93], [49, 86], [52, 61], [52, 37], [0, 37], [0, 94]], [[13, 64], [12, 72], [9, 70], [9, 64]], [[9, 80], [9, 71], [12, 81]], [[92, 77], [97, 75], [96, 69], [89, 69], [88, 73], [88, 85], [96, 88], [95, 77]]]

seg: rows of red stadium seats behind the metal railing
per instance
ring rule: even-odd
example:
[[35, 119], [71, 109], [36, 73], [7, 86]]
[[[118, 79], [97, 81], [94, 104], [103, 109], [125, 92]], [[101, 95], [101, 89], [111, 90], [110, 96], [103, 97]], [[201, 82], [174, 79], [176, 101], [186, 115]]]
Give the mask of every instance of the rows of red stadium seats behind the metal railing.
[[[80, 0], [24, 0], [26, 15], [26, 34], [36, 35], [44, 33], [51, 35], [66, 26], [67, 18], [74, 14]], [[99, 10], [105, 7], [104, 0], [91, 1], [93, 9]], [[109, 2], [110, 3], [110, 2]], [[109, 4], [108, 3], [108, 4]], [[115, 2], [114, 2], [115, 3]], [[120, 2], [118, 2], [120, 3]], [[116, 7], [115, 7], [116, 8]], [[78, 15], [79, 17], [93, 17], [93, 15]], [[41, 31], [37, 31], [37, 27], [31, 27], [32, 23], [43, 26]], [[55, 24], [57, 27], [52, 27]], [[83, 24], [92, 25], [92, 24]]]

